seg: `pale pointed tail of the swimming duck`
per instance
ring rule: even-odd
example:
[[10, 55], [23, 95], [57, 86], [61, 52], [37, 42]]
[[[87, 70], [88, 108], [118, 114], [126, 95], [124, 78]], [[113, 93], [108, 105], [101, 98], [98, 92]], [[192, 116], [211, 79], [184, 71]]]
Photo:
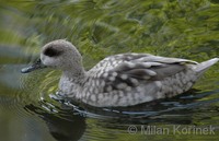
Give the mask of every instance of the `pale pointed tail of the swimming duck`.
[[201, 75], [207, 69], [209, 69], [212, 64], [219, 61], [219, 58], [214, 58], [204, 62], [200, 62], [194, 67], [194, 71]]

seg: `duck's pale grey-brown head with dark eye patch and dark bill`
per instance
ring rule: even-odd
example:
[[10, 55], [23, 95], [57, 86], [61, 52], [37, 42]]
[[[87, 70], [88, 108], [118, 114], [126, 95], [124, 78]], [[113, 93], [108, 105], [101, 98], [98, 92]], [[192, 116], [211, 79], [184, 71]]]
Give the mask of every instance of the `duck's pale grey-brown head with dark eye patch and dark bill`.
[[81, 55], [71, 43], [65, 39], [54, 40], [42, 48], [41, 58], [31, 67], [22, 69], [22, 73], [46, 67], [62, 71], [80, 68], [82, 67]]

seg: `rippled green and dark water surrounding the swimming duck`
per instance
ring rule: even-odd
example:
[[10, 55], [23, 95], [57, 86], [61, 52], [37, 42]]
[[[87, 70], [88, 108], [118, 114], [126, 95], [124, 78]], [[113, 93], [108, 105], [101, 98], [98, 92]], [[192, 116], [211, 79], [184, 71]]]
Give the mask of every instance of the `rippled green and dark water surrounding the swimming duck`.
[[[218, 57], [218, 7], [216, 0], [1, 0], [0, 141], [218, 140], [219, 64], [185, 94], [127, 108], [55, 101], [49, 95], [59, 71], [20, 72], [58, 38], [78, 47], [87, 69], [130, 51], [196, 61]], [[208, 131], [191, 133], [191, 126]]]

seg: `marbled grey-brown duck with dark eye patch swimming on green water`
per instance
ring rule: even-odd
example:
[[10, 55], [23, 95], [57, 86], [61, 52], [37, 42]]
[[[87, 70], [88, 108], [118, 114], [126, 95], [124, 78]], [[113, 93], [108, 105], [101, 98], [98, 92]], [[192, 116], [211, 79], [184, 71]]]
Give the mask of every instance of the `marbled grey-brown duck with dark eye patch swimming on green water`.
[[58, 85], [61, 97], [94, 107], [127, 107], [188, 91], [218, 60], [214, 58], [198, 63], [127, 52], [108, 56], [85, 71], [78, 49], [66, 39], [57, 39], [47, 43], [39, 59], [21, 72], [58, 69], [62, 71]]

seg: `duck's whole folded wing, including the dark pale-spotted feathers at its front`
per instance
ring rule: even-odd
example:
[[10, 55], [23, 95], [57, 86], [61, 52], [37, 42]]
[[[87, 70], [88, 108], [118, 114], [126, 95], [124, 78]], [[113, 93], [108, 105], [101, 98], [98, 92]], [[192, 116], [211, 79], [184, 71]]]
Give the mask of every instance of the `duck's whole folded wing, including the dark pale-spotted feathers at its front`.
[[[113, 66], [113, 59], [116, 66]], [[101, 71], [101, 79], [113, 89], [137, 86], [142, 81], [160, 81], [166, 77], [184, 71], [189, 64], [197, 62], [178, 58], [166, 58], [149, 54], [125, 54], [112, 56], [102, 63], [108, 62], [110, 68]]]

